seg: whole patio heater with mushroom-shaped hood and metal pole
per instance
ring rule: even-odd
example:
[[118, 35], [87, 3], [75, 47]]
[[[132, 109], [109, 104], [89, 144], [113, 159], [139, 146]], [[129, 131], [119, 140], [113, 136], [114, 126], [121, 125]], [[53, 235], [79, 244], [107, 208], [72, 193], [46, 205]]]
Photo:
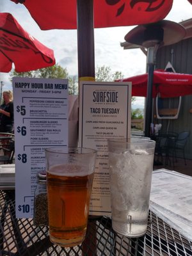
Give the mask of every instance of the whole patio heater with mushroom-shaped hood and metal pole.
[[179, 42], [185, 35], [186, 29], [170, 20], [139, 25], [125, 35], [125, 41], [147, 49], [148, 82], [145, 107], [145, 136], [147, 137], [150, 136], [150, 124], [152, 122], [152, 85], [157, 50], [159, 47]]

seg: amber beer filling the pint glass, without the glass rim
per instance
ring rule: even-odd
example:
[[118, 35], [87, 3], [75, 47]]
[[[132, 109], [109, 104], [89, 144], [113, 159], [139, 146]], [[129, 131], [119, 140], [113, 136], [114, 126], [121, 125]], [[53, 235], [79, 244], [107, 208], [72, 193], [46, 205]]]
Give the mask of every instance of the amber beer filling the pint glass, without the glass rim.
[[47, 172], [49, 233], [52, 242], [74, 246], [86, 234], [93, 173], [80, 176], [79, 166], [76, 176], [63, 176], [65, 168], [74, 167], [58, 165]]

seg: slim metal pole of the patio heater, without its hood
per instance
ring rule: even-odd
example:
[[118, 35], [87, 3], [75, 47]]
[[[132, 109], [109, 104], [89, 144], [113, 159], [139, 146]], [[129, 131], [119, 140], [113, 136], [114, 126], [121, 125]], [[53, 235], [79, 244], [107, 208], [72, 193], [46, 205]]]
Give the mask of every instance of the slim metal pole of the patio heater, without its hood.
[[152, 122], [152, 106], [153, 106], [153, 80], [154, 80], [154, 66], [156, 60], [156, 52], [159, 45], [148, 47], [147, 51], [147, 67], [148, 67], [148, 81], [147, 81], [147, 99], [145, 108], [145, 136], [150, 137], [150, 124]]

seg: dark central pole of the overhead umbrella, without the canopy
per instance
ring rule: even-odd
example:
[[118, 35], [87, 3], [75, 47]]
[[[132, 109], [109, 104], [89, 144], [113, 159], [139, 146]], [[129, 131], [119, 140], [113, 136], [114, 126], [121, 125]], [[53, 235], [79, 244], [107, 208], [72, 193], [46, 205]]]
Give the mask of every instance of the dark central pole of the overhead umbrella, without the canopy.
[[[77, 0], [77, 54], [79, 81], [95, 79], [95, 47], [93, 26], [93, 0]], [[90, 221], [87, 232], [91, 232], [92, 243], [86, 236], [82, 255], [97, 255], [97, 227]]]

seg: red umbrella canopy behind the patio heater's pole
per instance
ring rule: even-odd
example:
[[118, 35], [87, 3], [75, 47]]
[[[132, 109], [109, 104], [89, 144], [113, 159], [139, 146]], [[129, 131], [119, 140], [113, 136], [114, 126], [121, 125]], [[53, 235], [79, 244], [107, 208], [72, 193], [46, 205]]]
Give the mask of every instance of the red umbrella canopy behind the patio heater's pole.
[[[147, 97], [147, 73], [118, 81], [132, 82], [132, 96]], [[158, 93], [162, 98], [192, 95], [192, 75], [154, 70], [152, 97]]]

